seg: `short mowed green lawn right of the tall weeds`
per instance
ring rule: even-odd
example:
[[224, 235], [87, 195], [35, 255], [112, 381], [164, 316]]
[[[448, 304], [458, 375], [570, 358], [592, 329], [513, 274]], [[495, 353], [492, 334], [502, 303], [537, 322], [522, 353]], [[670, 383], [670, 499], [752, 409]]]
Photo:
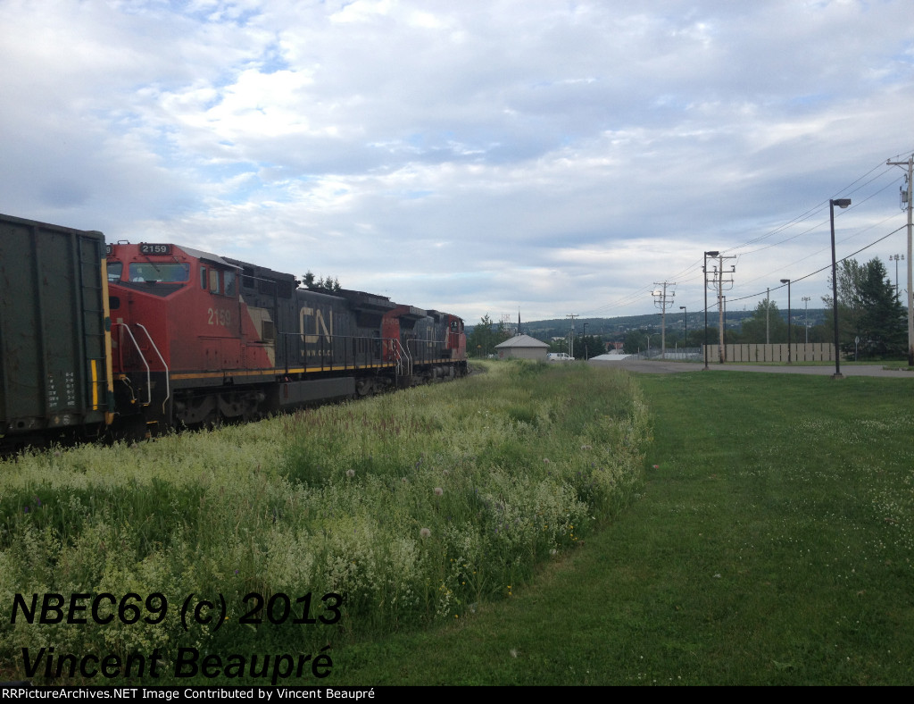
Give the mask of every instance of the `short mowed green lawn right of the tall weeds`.
[[326, 684], [914, 684], [914, 379], [638, 378], [643, 487], [459, 623]]

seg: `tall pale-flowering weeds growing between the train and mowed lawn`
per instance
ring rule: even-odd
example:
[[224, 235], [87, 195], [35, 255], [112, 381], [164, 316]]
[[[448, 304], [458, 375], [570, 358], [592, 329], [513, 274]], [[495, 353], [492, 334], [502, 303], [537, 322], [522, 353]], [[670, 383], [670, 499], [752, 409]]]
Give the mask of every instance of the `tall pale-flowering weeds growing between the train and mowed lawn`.
[[[23, 647], [159, 647], [165, 659], [178, 645], [308, 653], [460, 618], [611, 514], [638, 481], [648, 435], [624, 375], [500, 363], [456, 383], [218, 432], [7, 461], [0, 673], [22, 675]], [[10, 624], [16, 593], [45, 592], [159, 592], [169, 609], [154, 625]], [[293, 612], [308, 592], [313, 612], [336, 592], [341, 618], [240, 625], [250, 592], [285, 593]], [[190, 594], [221, 594], [228, 621], [185, 630]]]

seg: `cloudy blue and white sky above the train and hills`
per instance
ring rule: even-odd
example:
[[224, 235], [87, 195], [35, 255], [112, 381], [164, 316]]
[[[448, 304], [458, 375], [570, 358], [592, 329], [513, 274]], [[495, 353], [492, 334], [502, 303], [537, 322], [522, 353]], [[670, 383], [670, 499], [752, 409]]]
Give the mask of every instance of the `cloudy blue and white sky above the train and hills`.
[[781, 279], [822, 307], [850, 197], [837, 256], [904, 254], [906, 285], [909, 0], [0, 0], [0, 27], [7, 215], [474, 324], [659, 312], [664, 282], [699, 311], [705, 251], [728, 309], [785, 309]]

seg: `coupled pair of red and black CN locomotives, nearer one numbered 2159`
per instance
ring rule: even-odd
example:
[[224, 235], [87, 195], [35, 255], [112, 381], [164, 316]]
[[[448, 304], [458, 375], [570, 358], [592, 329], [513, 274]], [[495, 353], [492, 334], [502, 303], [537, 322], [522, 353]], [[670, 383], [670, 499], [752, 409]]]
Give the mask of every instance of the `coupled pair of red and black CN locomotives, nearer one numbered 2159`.
[[110, 245], [107, 271], [124, 419], [254, 419], [466, 370], [454, 315], [173, 244]]

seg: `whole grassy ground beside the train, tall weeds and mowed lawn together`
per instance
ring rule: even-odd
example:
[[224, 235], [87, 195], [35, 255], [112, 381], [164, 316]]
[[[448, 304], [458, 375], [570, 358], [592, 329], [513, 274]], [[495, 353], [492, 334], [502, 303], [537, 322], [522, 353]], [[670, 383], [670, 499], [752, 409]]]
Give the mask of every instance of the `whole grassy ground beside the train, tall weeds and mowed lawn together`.
[[[21, 677], [21, 645], [157, 634], [215, 654], [331, 645], [320, 683], [336, 686], [914, 684], [914, 379], [696, 370], [632, 388], [570, 367], [495, 364], [275, 426], [5, 466], [4, 613], [13, 590], [96, 573], [89, 589], [357, 599], [332, 628], [229, 621], [208, 641], [0, 626], [2, 674]], [[57, 517], [37, 521], [37, 500]], [[116, 554], [90, 549], [100, 535]], [[454, 546], [476, 546], [484, 579], [453, 567]]]

